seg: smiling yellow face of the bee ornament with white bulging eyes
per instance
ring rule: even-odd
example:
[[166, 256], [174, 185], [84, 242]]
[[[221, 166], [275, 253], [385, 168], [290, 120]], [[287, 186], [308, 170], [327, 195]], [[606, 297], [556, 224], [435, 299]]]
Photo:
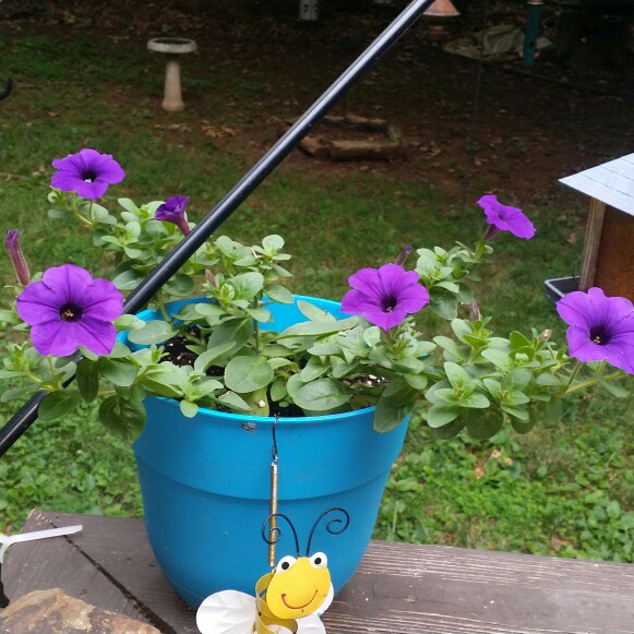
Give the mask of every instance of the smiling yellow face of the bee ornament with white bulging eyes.
[[280, 619], [300, 619], [315, 612], [331, 589], [328, 560], [323, 552], [312, 557], [279, 560], [266, 590], [268, 609]]

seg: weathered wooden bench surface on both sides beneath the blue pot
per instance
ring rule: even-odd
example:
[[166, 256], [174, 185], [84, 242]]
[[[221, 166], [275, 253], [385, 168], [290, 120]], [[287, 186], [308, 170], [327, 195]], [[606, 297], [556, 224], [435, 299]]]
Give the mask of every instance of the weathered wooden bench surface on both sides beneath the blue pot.
[[[141, 519], [34, 511], [23, 530], [74, 524], [83, 531], [10, 548], [12, 600], [60, 587], [162, 632], [198, 633]], [[324, 623], [328, 634], [634, 633], [634, 566], [372, 541]]]

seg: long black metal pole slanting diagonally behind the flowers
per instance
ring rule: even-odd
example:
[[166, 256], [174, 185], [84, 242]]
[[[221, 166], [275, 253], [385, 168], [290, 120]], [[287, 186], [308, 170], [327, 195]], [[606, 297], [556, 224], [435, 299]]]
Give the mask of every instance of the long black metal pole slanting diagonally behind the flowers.
[[[163, 285], [196, 252], [258, 186], [284, 160], [355, 82], [422, 15], [434, 0], [414, 0], [344, 71], [323, 95], [278, 139], [264, 156], [234, 186], [225, 198], [166, 255], [158, 266], [128, 296], [124, 312], [134, 313], [147, 304]], [[47, 392], [33, 396], [0, 430], [0, 456], [37, 419]]]

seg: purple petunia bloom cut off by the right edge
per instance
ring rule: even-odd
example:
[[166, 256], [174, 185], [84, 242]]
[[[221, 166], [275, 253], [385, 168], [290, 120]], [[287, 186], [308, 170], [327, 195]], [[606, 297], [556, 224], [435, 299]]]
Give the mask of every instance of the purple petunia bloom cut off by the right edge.
[[571, 357], [579, 361], [608, 361], [634, 374], [634, 307], [623, 297], [606, 297], [600, 288], [570, 292], [557, 302], [570, 325]]

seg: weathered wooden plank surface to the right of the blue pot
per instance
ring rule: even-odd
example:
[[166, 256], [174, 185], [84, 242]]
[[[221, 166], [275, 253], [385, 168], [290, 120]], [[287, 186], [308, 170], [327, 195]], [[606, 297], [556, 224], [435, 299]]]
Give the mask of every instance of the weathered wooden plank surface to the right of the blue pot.
[[634, 566], [374, 541], [324, 622], [328, 634], [632, 633]]

